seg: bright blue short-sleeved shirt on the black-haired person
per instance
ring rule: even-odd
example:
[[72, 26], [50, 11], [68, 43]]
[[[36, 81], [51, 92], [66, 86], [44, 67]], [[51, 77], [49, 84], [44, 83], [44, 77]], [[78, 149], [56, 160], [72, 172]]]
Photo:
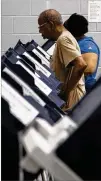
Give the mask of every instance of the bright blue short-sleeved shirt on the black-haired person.
[[98, 65], [99, 65], [99, 61], [100, 61], [100, 49], [92, 37], [85, 36], [81, 40], [78, 40], [78, 44], [80, 46], [81, 54], [92, 52], [92, 53], [96, 53], [98, 55], [97, 66], [96, 66], [95, 72], [88, 76], [85, 76], [86, 90], [90, 90], [96, 82], [96, 73], [97, 73], [97, 69], [98, 69]]

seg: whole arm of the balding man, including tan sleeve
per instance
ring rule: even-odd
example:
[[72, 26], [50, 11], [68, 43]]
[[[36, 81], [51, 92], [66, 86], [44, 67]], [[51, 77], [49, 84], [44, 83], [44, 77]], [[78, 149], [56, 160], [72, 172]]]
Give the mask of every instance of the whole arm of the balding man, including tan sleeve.
[[82, 58], [81, 52], [79, 51], [79, 46], [77, 48], [78, 44], [76, 45], [76, 42], [73, 38], [63, 37], [61, 41], [58, 41], [58, 48], [60, 49], [61, 54], [61, 63], [65, 65], [65, 67], [68, 67], [70, 63], [73, 64], [73, 72], [70, 78], [70, 81], [68, 77], [65, 78], [65, 89], [68, 94], [75, 88], [78, 81], [82, 77], [87, 64], [85, 60]]

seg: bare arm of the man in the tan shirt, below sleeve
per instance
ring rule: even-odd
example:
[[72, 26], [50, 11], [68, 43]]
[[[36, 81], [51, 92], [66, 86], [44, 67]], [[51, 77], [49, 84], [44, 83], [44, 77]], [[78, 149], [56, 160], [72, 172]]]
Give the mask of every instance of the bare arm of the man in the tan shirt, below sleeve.
[[70, 93], [71, 90], [73, 90], [76, 87], [78, 81], [80, 80], [85, 69], [87, 68], [87, 64], [82, 58], [82, 56], [76, 57], [72, 63], [74, 64], [74, 68], [71, 79], [68, 82], [68, 87], [69, 87], [69, 89], [67, 87], [67, 91], [69, 90], [68, 94]]

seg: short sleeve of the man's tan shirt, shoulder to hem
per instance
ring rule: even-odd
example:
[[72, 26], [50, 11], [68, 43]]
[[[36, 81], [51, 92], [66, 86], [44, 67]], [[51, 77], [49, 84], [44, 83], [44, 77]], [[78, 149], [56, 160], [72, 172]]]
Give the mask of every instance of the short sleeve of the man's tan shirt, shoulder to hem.
[[81, 56], [81, 52], [79, 49], [79, 45], [77, 42], [73, 42], [72, 39], [68, 37], [62, 37], [58, 42], [57, 46], [59, 49], [59, 57], [61, 63], [65, 65], [65, 67], [76, 57]]

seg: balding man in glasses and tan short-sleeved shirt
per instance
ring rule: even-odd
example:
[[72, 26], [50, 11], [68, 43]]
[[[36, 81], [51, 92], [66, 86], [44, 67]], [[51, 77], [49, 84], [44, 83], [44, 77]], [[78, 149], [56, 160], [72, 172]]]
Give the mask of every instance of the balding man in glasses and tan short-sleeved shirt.
[[43, 11], [39, 15], [38, 24], [43, 38], [57, 41], [51, 68], [56, 77], [64, 83], [61, 94], [66, 101], [63, 111], [66, 111], [85, 94], [83, 73], [87, 65], [81, 56], [76, 39], [64, 28], [58, 11], [54, 9]]

